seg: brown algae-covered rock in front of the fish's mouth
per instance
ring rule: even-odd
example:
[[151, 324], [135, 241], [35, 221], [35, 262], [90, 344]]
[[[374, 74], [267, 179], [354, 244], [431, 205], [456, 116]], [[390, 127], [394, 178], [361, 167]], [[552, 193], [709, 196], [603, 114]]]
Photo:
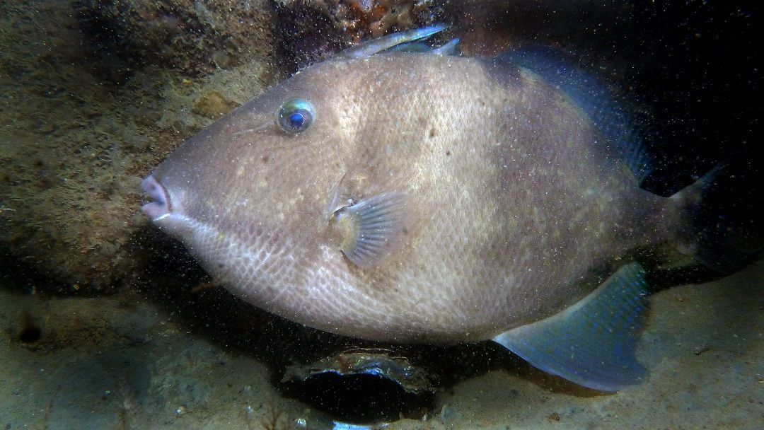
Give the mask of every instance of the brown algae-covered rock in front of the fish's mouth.
[[[108, 56], [76, 43], [92, 36], [77, 13], [83, 2], [27, 3], [3, 2], [8, 13], [0, 18], [0, 263], [15, 268], [5, 276], [31, 289], [86, 294], [148, 280], [154, 257], [143, 244], [156, 232], [140, 213], [141, 177], [211, 117], [262, 92], [274, 76], [274, 42], [255, 31], [235, 63], [199, 76], [141, 50], [144, 65], [115, 72], [125, 78], [115, 83], [104, 74]], [[138, 3], [163, 4], [113, 5]], [[263, 4], [251, 2], [238, 25], [270, 28], [270, 11], [256, 8]], [[206, 52], [225, 46], [211, 43]], [[207, 108], [193, 112], [205, 99]]]

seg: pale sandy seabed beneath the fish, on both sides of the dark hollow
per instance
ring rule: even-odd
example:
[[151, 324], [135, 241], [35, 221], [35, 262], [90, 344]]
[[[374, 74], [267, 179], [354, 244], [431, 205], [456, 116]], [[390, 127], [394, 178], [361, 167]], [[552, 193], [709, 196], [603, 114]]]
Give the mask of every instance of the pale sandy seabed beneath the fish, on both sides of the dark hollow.
[[[445, 387], [384, 428], [764, 428], [764, 262], [651, 298], [649, 379], [613, 395], [528, 369]], [[352, 428], [274, 388], [246, 354], [137, 293], [45, 299], [0, 288], [2, 428]], [[510, 357], [507, 357], [511, 361]]]

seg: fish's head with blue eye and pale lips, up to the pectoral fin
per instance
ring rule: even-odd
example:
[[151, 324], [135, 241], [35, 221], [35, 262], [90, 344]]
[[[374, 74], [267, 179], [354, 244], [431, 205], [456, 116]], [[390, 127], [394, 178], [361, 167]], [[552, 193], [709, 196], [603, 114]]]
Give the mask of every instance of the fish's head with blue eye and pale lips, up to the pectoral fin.
[[191, 137], [144, 179], [154, 200], [144, 214], [260, 306], [275, 289], [315, 283], [316, 270], [344, 270], [338, 211], [396, 191], [403, 163], [373, 149], [387, 137], [370, 115], [394, 101], [359, 92], [384, 75], [366, 61], [312, 66]]

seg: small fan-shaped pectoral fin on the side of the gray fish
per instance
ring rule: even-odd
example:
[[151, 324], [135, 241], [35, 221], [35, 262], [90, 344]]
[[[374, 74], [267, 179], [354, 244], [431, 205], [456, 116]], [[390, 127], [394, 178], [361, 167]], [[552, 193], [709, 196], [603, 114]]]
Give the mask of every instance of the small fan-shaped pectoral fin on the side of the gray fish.
[[393, 192], [338, 209], [330, 222], [342, 254], [356, 266], [370, 268], [400, 247], [407, 219], [406, 195]]

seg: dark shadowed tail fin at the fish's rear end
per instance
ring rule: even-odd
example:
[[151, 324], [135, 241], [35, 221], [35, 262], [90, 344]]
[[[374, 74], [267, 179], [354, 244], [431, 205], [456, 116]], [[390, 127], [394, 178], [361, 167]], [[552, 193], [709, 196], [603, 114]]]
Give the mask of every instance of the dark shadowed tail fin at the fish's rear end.
[[751, 160], [714, 167], [671, 199], [680, 207], [675, 247], [691, 251], [681, 267], [664, 267], [649, 280], [658, 289], [734, 273], [764, 251], [764, 183]]

